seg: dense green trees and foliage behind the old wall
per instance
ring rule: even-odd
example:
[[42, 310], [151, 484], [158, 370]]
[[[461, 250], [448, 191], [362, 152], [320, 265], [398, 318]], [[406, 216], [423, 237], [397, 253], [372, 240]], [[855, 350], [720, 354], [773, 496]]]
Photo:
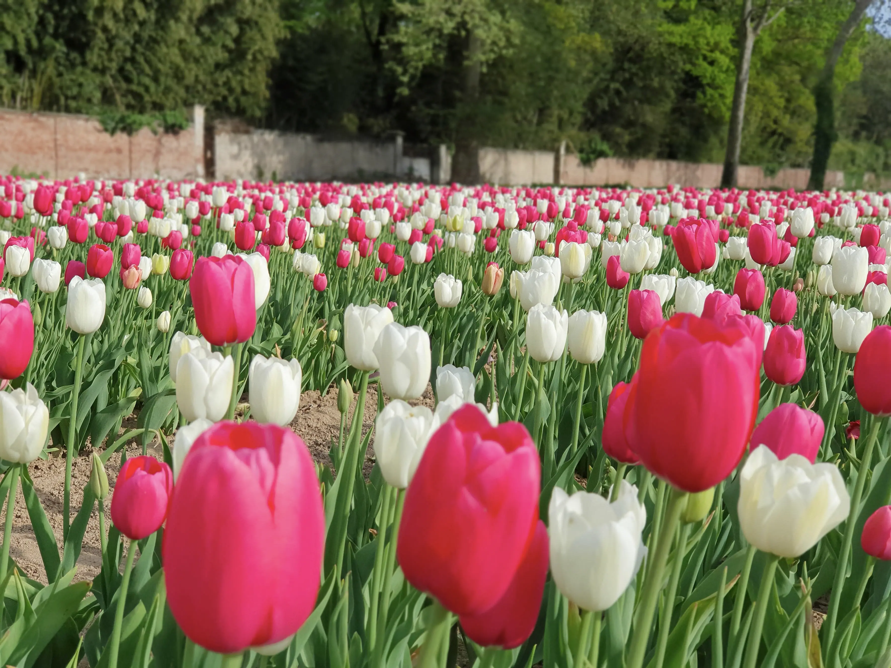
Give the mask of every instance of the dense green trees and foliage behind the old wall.
[[[797, 0], [758, 37], [743, 163], [808, 164], [811, 91], [852, 6]], [[200, 102], [285, 130], [722, 162], [739, 12], [740, 0], [0, 0], [0, 103], [102, 113], [121, 131], [167, 127], [160, 112]], [[883, 31], [858, 29], [836, 72], [830, 168], [852, 175], [891, 173]]]

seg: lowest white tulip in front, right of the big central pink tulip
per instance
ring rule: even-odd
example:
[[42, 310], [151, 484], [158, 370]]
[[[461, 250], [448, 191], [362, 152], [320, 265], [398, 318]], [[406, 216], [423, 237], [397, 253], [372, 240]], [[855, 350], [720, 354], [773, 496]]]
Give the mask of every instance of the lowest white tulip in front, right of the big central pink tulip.
[[548, 505], [551, 572], [557, 589], [576, 606], [600, 612], [618, 600], [637, 574], [646, 548], [647, 512], [637, 487], [619, 484], [616, 501], [600, 494], [568, 496], [554, 487]]

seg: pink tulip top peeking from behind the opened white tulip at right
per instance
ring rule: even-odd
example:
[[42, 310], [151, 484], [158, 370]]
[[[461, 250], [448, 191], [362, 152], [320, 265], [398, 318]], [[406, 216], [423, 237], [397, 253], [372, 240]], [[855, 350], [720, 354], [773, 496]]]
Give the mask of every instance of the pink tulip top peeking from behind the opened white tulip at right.
[[812, 464], [823, 440], [822, 418], [797, 403], [781, 403], [752, 432], [750, 449], [766, 445], [779, 459], [800, 454]]

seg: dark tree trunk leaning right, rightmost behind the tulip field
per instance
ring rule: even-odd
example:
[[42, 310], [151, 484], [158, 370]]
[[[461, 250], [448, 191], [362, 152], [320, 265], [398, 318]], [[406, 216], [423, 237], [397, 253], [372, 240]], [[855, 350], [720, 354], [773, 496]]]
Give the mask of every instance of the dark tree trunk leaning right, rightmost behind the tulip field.
[[847, 20], [838, 29], [835, 41], [832, 43], [829, 53], [826, 54], [826, 64], [816, 86], [813, 86], [813, 103], [817, 110], [817, 120], [813, 126], [813, 160], [811, 161], [811, 176], [807, 187], [812, 191], [822, 191], [823, 182], [826, 180], [826, 167], [829, 165], [832, 144], [835, 143], [837, 134], [835, 131], [835, 68], [845, 44], [854, 30], [860, 25], [863, 14], [872, 4], [872, 0], [856, 0], [854, 9]]

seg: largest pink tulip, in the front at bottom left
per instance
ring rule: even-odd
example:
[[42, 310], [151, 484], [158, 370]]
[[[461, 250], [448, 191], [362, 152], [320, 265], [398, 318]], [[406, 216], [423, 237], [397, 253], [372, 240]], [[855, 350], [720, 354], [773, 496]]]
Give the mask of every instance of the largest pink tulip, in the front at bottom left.
[[192, 444], [164, 532], [168, 605], [224, 654], [295, 633], [315, 607], [325, 518], [306, 444], [290, 429], [219, 422]]

